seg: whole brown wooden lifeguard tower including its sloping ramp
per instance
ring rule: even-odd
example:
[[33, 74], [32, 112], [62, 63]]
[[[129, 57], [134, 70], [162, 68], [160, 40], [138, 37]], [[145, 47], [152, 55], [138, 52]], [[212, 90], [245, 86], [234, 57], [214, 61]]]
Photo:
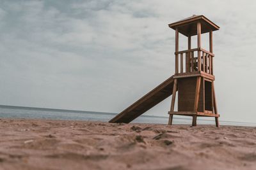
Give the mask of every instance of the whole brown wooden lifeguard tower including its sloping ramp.
[[[215, 117], [219, 127], [216, 95], [214, 90], [212, 31], [218, 25], [204, 17], [192, 17], [169, 24], [175, 30], [175, 74], [141, 97], [109, 122], [129, 123], [145, 111], [172, 95], [168, 124], [172, 125], [173, 115], [193, 117]], [[209, 32], [209, 51], [201, 46], [201, 34]], [[188, 50], [179, 51], [179, 33], [188, 37]], [[197, 47], [191, 48], [191, 36], [197, 36]], [[174, 111], [175, 97], [178, 92], [177, 111]]]

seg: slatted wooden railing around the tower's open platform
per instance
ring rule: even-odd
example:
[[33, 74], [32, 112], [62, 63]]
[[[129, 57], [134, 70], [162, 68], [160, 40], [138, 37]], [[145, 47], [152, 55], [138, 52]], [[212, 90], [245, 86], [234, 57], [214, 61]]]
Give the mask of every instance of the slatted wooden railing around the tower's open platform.
[[175, 52], [175, 73], [204, 71], [205, 73], [213, 74], [213, 57], [213, 53], [207, 52], [203, 48]]

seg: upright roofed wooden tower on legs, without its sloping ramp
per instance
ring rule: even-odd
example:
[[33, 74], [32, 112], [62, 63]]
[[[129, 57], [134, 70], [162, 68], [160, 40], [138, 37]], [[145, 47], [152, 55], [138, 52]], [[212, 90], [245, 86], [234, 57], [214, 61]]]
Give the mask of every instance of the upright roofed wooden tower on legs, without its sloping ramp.
[[[185, 115], [193, 117], [193, 126], [196, 126], [196, 117], [215, 117], [216, 127], [219, 127], [212, 31], [220, 27], [204, 15], [193, 15], [169, 24], [169, 27], [175, 30], [175, 74], [168, 124], [172, 125], [173, 115]], [[188, 50], [179, 51], [179, 33], [188, 37]], [[204, 33], [209, 33], [209, 51], [201, 46], [201, 34]], [[197, 36], [197, 48], [191, 48], [191, 36]], [[178, 106], [177, 111], [174, 111], [177, 90]]]

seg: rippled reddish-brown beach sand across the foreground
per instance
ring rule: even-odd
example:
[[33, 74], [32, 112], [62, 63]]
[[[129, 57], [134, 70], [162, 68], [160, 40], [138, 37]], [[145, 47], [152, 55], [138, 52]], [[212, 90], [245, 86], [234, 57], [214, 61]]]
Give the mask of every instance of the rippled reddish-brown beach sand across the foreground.
[[256, 169], [256, 127], [0, 120], [0, 169]]

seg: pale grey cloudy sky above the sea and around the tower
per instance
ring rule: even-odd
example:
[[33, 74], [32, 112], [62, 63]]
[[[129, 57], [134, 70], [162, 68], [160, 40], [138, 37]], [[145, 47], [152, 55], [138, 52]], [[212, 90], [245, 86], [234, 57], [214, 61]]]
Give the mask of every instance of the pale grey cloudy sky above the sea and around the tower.
[[[256, 122], [255, 6], [0, 0], [0, 104], [120, 113], [172, 76], [175, 31], [168, 24], [195, 14], [220, 26], [213, 32], [220, 120]], [[186, 41], [180, 35], [180, 50]], [[145, 115], [167, 116], [170, 101]]]

